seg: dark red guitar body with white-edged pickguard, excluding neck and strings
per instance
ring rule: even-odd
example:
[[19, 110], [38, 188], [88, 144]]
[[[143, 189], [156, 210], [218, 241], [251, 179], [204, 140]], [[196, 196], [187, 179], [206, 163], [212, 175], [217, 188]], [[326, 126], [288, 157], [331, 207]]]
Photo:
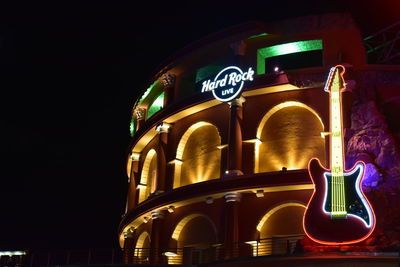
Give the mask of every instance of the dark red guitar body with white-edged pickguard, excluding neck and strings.
[[353, 169], [343, 173], [347, 215], [333, 218], [331, 173], [318, 159], [310, 161], [309, 172], [315, 189], [304, 214], [303, 226], [312, 240], [330, 245], [352, 244], [368, 238], [373, 232], [375, 215], [361, 189], [364, 170], [364, 163], [357, 162]]

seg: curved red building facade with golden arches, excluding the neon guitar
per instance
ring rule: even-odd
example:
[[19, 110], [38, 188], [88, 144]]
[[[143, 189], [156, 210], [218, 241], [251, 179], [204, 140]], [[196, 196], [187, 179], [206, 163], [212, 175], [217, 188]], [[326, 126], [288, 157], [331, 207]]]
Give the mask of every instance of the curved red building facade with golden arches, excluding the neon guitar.
[[[321, 247], [304, 241], [303, 215], [314, 191], [310, 159], [330, 162], [323, 88], [338, 64], [347, 69], [348, 144], [357, 135], [354, 103], [362, 102], [355, 91], [368, 71], [382, 67], [367, 64], [347, 15], [236, 26], [166, 61], [132, 112], [119, 228], [126, 263], [193, 264]], [[229, 66], [247, 80], [238, 80], [238, 95], [221, 101], [207, 88]], [[366, 152], [346, 148], [349, 165]], [[374, 160], [366, 156], [371, 166]]]

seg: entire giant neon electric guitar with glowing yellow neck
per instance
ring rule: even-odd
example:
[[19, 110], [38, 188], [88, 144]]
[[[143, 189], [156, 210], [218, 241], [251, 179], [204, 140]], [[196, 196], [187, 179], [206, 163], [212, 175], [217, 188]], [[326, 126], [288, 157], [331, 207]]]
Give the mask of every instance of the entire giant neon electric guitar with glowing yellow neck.
[[362, 192], [365, 164], [358, 161], [344, 170], [341, 94], [345, 89], [345, 68], [331, 68], [325, 84], [330, 96], [330, 166], [318, 159], [309, 163], [315, 185], [303, 219], [307, 236], [321, 244], [352, 244], [366, 239], [375, 228], [375, 214]]

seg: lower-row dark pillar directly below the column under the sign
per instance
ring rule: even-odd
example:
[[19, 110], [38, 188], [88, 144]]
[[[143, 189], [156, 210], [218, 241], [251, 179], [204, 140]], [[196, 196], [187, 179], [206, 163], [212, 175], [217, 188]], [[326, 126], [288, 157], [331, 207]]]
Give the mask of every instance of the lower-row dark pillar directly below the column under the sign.
[[239, 255], [238, 205], [241, 195], [237, 192], [225, 194], [225, 259]]

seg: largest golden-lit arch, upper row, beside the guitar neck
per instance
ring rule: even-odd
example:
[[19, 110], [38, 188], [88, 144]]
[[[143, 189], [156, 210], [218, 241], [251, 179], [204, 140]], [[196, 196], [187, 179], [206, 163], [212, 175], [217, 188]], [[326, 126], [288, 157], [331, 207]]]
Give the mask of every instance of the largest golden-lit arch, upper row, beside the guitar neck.
[[324, 162], [324, 128], [318, 113], [303, 103], [287, 101], [274, 106], [257, 128], [254, 172], [306, 169], [313, 157]]

